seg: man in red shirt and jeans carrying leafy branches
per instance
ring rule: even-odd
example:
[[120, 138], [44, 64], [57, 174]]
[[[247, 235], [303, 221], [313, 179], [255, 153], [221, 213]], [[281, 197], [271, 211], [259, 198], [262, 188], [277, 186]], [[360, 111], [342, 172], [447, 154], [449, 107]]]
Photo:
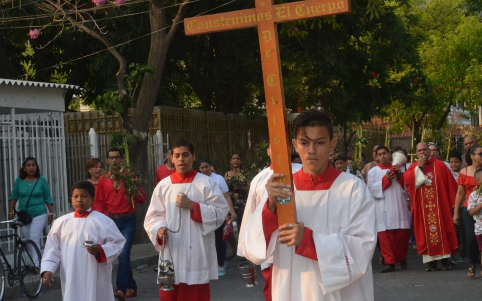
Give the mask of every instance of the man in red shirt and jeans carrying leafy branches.
[[123, 161], [124, 156], [121, 149], [114, 147], [108, 150], [107, 163], [110, 165], [110, 170], [100, 177], [95, 190], [95, 202], [92, 204], [92, 209], [110, 217], [126, 238], [124, 249], [118, 257], [117, 290], [114, 293], [120, 299], [137, 295], [137, 283], [132, 276], [131, 248], [136, 234], [136, 210], [138, 207], [136, 203], [142, 204], [146, 201], [146, 194], [140, 185], [141, 193], [136, 195], [134, 202], [128, 197], [122, 184], [121, 187], [114, 187], [111, 175], [120, 172]]

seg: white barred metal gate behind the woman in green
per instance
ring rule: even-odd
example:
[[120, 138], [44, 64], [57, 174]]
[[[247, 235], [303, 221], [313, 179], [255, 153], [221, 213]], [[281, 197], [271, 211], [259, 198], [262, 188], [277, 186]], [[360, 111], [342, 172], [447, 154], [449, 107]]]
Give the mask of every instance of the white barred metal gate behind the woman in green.
[[[0, 115], [0, 220], [7, 219], [12, 187], [27, 157], [37, 159], [41, 175], [49, 182], [54, 218], [71, 212], [63, 113], [16, 115], [12, 108], [11, 114]], [[4, 231], [0, 230], [0, 234], [5, 234]], [[11, 244], [8, 245], [10, 248]]]

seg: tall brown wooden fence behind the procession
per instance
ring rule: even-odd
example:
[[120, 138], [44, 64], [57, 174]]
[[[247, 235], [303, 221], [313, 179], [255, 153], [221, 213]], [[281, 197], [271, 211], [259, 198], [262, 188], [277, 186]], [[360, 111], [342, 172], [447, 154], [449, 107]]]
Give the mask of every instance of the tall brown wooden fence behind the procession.
[[[107, 134], [122, 130], [122, 122], [118, 114], [107, 116], [100, 111], [90, 111], [65, 113], [65, 125], [68, 137], [69, 182], [71, 184], [83, 179], [85, 164], [90, 158], [87, 135], [89, 129], [93, 127], [98, 133], [99, 156], [105, 166], [105, 155], [109, 148]], [[149, 186], [153, 185], [156, 167], [161, 164], [158, 162], [152, 137], [157, 130], [161, 130], [165, 139], [169, 134], [169, 144], [178, 139], [191, 141], [196, 150], [196, 158], [209, 158], [219, 175], [223, 175], [230, 169], [229, 162], [234, 153], [241, 156], [245, 168], [249, 168], [253, 163], [258, 164], [258, 158], [255, 157], [257, 144], [269, 140], [266, 118], [249, 120], [248, 117], [238, 114], [205, 112], [188, 108], [155, 107], [151, 115], [149, 154], [147, 155], [152, 178], [149, 179]], [[248, 131], [251, 146], [248, 142]], [[343, 149], [342, 129], [335, 127], [334, 134], [339, 137], [336, 150], [341, 151]], [[370, 161], [373, 146], [385, 142], [385, 130], [367, 127], [364, 128], [364, 136], [370, 137], [369, 144], [363, 150], [367, 161]], [[354, 149], [355, 142], [356, 137], [350, 142], [350, 150]], [[164, 153], [165, 151], [166, 149], [164, 149]], [[197, 166], [194, 168], [197, 169]]]

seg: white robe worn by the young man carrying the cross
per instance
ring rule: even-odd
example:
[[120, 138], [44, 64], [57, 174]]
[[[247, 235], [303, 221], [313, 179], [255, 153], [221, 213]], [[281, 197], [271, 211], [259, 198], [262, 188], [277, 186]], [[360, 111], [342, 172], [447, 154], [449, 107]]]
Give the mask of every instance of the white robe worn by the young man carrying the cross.
[[256, 209], [243, 236], [246, 257], [255, 264], [274, 255], [273, 300], [373, 300], [375, 205], [365, 183], [341, 173], [328, 190], [298, 191], [295, 184], [295, 200], [298, 221], [313, 230], [318, 261], [278, 243], [278, 230], [267, 248], [264, 206]]

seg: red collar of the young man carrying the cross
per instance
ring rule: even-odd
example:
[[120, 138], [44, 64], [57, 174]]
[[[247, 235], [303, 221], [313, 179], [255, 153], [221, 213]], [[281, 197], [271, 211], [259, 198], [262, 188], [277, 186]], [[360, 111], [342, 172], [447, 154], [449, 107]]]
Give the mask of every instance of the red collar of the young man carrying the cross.
[[314, 179], [301, 169], [293, 175], [293, 182], [298, 190], [328, 190], [339, 175], [341, 171], [328, 164], [326, 171], [315, 175]]

